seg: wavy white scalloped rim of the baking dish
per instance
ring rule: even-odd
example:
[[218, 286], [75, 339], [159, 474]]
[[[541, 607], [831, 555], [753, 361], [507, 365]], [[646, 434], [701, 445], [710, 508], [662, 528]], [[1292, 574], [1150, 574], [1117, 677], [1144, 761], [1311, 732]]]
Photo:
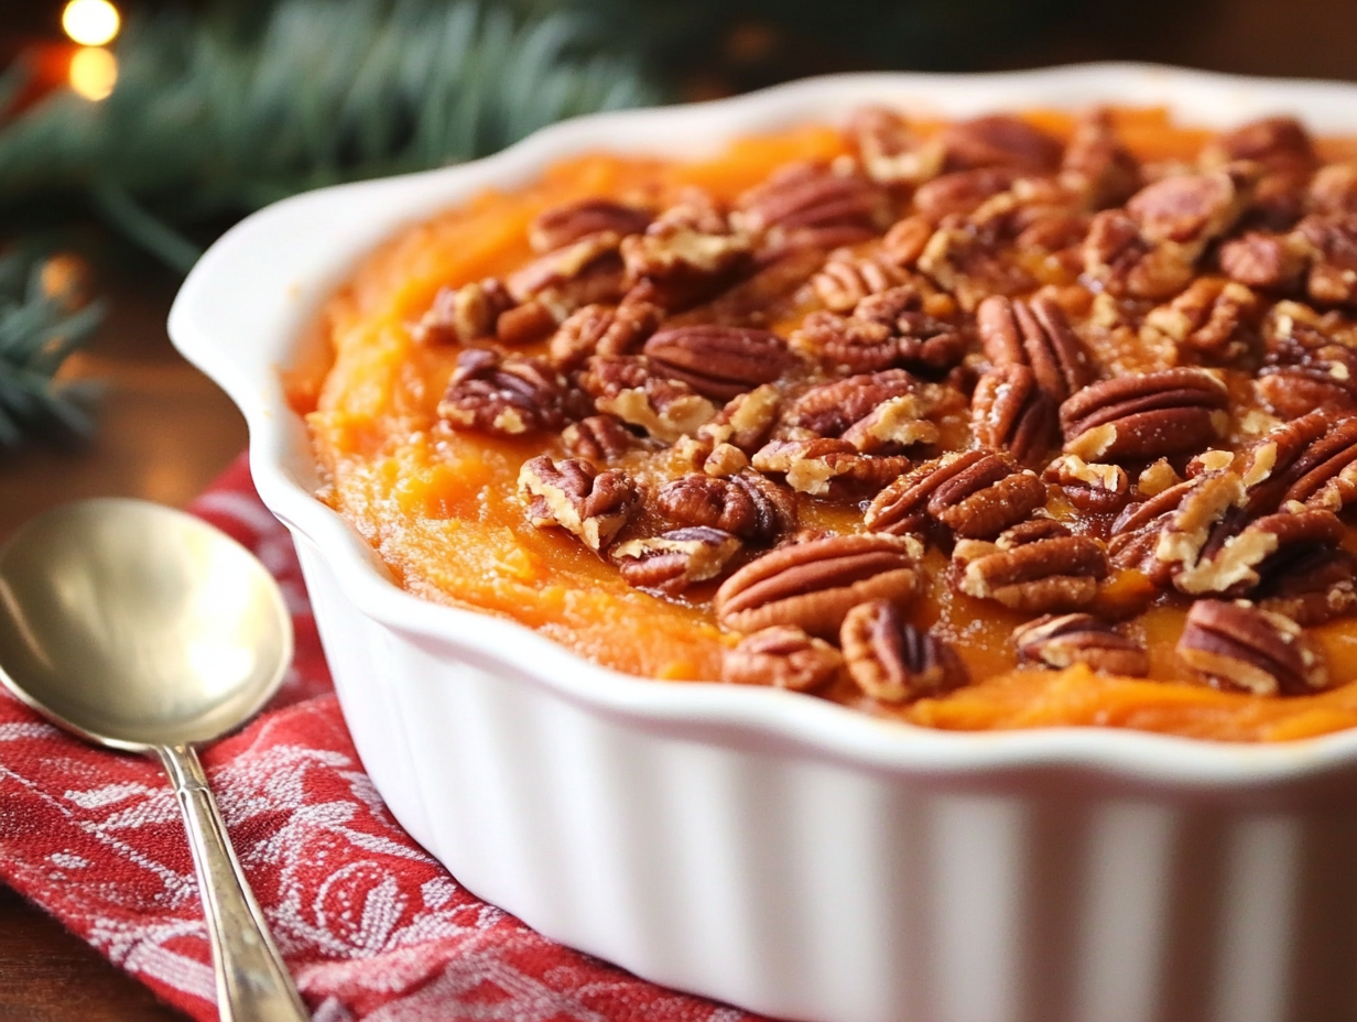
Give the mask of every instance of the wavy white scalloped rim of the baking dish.
[[[924, 94], [924, 95], [921, 95]], [[1069, 102], [1073, 96], [1076, 102]], [[250, 261], [267, 261], [294, 214], [318, 209], [342, 214], [365, 198], [437, 182], [444, 206], [497, 186], [531, 181], [554, 160], [588, 149], [676, 152], [674, 137], [707, 132], [715, 143], [798, 122], [830, 122], [864, 102], [900, 103], [943, 115], [1034, 107], [1077, 109], [1092, 103], [1168, 106], [1177, 119], [1225, 128], [1265, 113], [1296, 113], [1316, 133], [1357, 134], [1357, 86], [1267, 80], [1141, 64], [1083, 64], [985, 75], [870, 73], [806, 79], [759, 92], [673, 107], [590, 114], [541, 129], [482, 160], [434, 171], [341, 185], [305, 193], [263, 209], [228, 231], [198, 262], [170, 314], [170, 334], [180, 353], [221, 385], [240, 407], [250, 430], [250, 464], [270, 510], [307, 537], [327, 561], [345, 596], [389, 628], [474, 651], [503, 664], [562, 696], [639, 723], [674, 729], [735, 729], [767, 741], [791, 741], [820, 755], [885, 771], [991, 772], [1079, 765], [1128, 779], [1185, 787], [1284, 784], [1357, 765], [1357, 729], [1278, 744], [1234, 744], [1114, 727], [1035, 727], [944, 732], [882, 721], [835, 703], [778, 689], [714, 683], [666, 683], [623, 675], [571, 653], [525, 626], [476, 611], [417, 597], [394, 584], [375, 551], [338, 513], [312, 495], [309, 441], [284, 398], [278, 368], [300, 343], [296, 334], [267, 338], [244, 366], [231, 333], [214, 316], [221, 301], [250, 293], [256, 282], [232, 277]], [[715, 126], [712, 126], [715, 122]], [[683, 129], [683, 130], [673, 130]], [[619, 145], [617, 140], [626, 143]], [[318, 208], [316, 204], [320, 204]], [[399, 205], [399, 204], [396, 204]], [[437, 208], [425, 210], [432, 216]], [[370, 239], [380, 242], [408, 223], [381, 219]], [[342, 282], [372, 244], [338, 258], [324, 239], [312, 239], [322, 273], [311, 285], [290, 284], [296, 297], [311, 290], [305, 312]], [[243, 290], [242, 290], [243, 289]], [[548, 665], [543, 668], [541, 665]]]

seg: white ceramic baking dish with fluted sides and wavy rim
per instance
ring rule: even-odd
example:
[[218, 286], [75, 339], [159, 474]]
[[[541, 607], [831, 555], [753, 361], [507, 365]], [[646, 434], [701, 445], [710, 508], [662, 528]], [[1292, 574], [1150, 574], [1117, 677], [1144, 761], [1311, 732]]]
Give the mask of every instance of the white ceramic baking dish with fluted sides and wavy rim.
[[1353, 86], [1133, 65], [845, 76], [588, 117], [246, 220], [193, 270], [170, 331], [250, 423], [255, 482], [296, 536], [377, 790], [460, 882], [541, 932], [769, 1015], [1350, 1022], [1357, 733], [1273, 748], [954, 734], [782, 691], [624, 677], [404, 593], [312, 498], [278, 366], [379, 242], [578, 151], [693, 157], [862, 103], [1163, 105], [1206, 126], [1295, 113], [1357, 133]]

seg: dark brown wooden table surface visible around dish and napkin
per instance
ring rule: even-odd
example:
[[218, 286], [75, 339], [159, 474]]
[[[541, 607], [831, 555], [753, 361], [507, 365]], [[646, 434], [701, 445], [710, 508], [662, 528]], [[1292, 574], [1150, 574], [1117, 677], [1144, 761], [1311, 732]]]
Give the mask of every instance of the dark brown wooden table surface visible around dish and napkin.
[[[1357, 80], [1353, 0], [1140, 0], [1094, 8], [1004, 64], [1149, 60]], [[174, 288], [147, 263], [102, 281], [113, 312], [80, 364], [109, 383], [99, 433], [81, 452], [0, 452], [0, 542], [42, 509], [80, 497], [182, 505], [243, 449], [235, 409], [170, 347], [164, 320]], [[0, 1022], [183, 1018], [0, 885]]]

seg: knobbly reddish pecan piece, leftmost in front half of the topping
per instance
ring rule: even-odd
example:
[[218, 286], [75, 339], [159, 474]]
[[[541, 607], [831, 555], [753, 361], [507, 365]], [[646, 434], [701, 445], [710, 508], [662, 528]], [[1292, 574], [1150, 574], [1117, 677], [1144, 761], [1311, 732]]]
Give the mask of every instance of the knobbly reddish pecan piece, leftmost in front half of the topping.
[[536, 528], [559, 525], [593, 551], [612, 542], [636, 502], [636, 487], [626, 472], [598, 472], [581, 459], [552, 461], [547, 455], [524, 463], [518, 493]]

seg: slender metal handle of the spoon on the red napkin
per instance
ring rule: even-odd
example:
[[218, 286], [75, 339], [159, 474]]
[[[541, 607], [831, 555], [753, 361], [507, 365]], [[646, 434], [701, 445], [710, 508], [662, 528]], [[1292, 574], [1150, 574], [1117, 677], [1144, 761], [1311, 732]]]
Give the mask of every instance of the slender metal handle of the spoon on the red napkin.
[[189, 847], [212, 936], [217, 1011], [223, 1022], [309, 1019], [240, 871], [198, 753], [190, 745], [161, 745], [156, 752], [170, 774], [189, 829]]

